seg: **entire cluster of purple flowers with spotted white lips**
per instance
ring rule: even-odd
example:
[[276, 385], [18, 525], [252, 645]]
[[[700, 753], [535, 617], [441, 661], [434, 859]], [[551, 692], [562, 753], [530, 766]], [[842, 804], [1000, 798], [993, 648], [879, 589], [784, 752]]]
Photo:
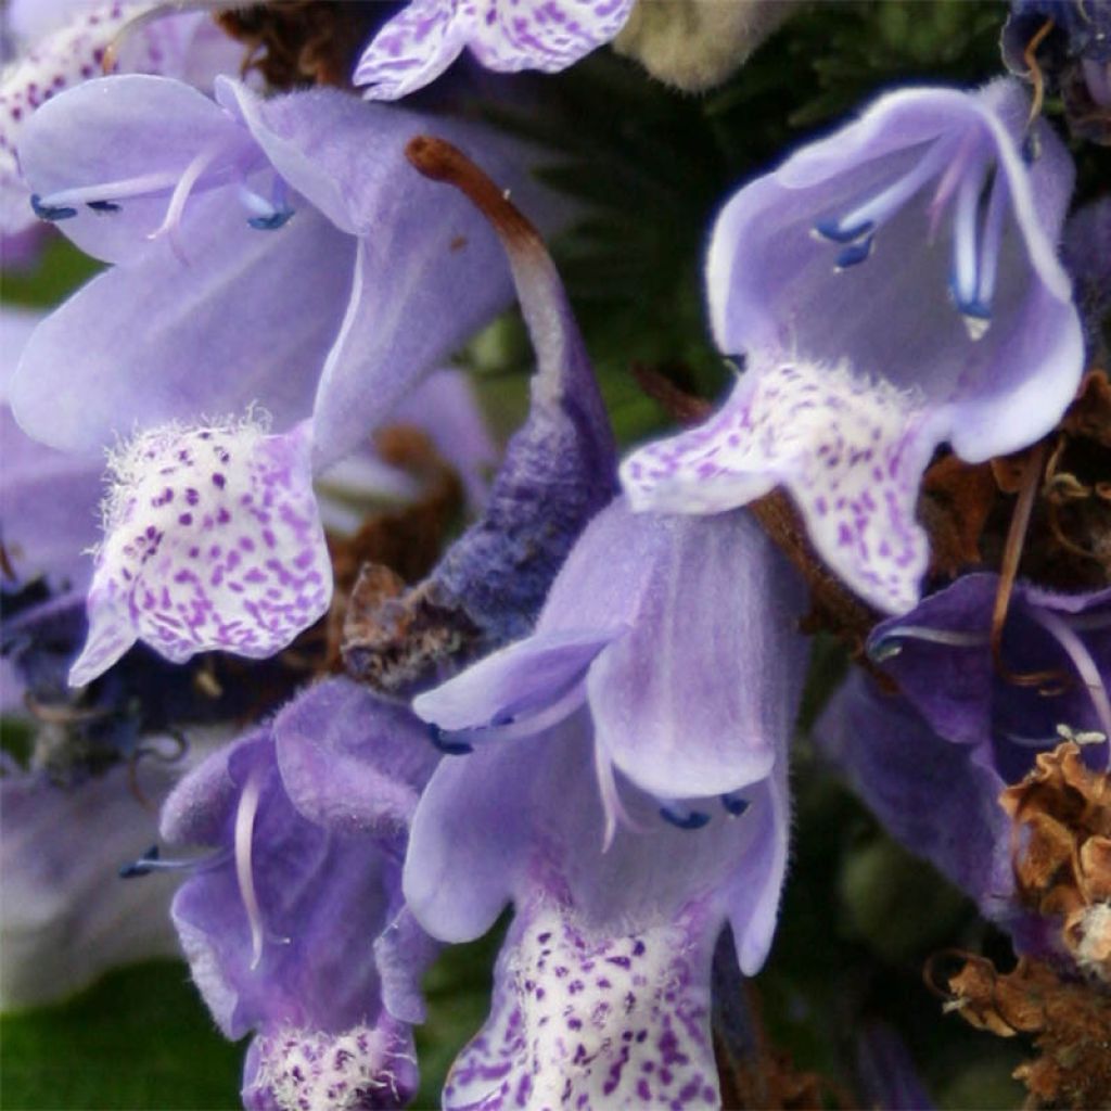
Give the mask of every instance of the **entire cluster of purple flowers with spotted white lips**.
[[[173, 897], [181, 947], [220, 1030], [253, 1034], [244, 1105], [411, 1099], [422, 973], [508, 907], [446, 1108], [720, 1103], [714, 953], [725, 933], [741, 972], [760, 969], [790, 855], [807, 587], [745, 508], [777, 488], [871, 608], [867, 653], [898, 689], [852, 679], [822, 747], [897, 838], [1023, 937], [997, 798], [1062, 737], [1107, 767], [1111, 595], [1020, 581], [999, 625], [999, 574], [927, 579], [918, 514], [939, 450], [980, 463], [1035, 444], [1085, 368], [1057, 254], [1070, 157], [1019, 83], [888, 93], [742, 186], [705, 267], [737, 382], [619, 467], [533, 227], [568, 220], [533, 178], [543, 152], [338, 90], [263, 96], [218, 54], [198, 76], [192, 40], [144, 38], [130, 72], [87, 72], [101, 31], [148, 7], [50, 31], [0, 98], [0, 227], [22, 227], [19, 194], [107, 263], [3, 378], [0, 537], [26, 605], [6, 707], [33, 701], [48, 655], [54, 688], [64, 672], [98, 705], [121, 704], [104, 684], [141, 652], [191, 679], [213, 659], [199, 653], [239, 657], [237, 681], [261, 684], [252, 669], [347, 603], [329, 477], [416, 497], [370, 451], [399, 416], [476, 511], [423, 580], [363, 613], [400, 640], [348, 644], [348, 674], [287, 680], [246, 731], [249, 712], [217, 712], [210, 753], [161, 784], [161, 839], [202, 847]], [[394, 100], [464, 49], [556, 71], [631, 9], [413, 0], [354, 83]], [[32, 103], [28, 74], [52, 59], [59, 91]], [[486, 490], [489, 440], [441, 367], [514, 292], [537, 369]], [[59, 659], [46, 630], [64, 607]], [[1031, 673], [1060, 680], [1013, 679]], [[36, 828], [37, 775], [4, 780], [6, 825]], [[171, 863], [152, 850], [130, 872]]]

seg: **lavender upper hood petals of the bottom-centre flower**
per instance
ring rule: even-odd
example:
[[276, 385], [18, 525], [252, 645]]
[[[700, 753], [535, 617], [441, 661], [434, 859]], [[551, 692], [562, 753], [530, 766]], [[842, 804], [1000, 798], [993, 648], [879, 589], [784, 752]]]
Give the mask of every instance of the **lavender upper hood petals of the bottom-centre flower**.
[[[459, 752], [531, 743], [587, 703], [611, 833], [614, 770], [667, 819], [697, 825], [783, 759], [804, 668], [801, 612], [793, 572], [747, 514], [642, 516], [619, 499], [572, 549], [531, 635], [413, 708]], [[691, 809], [714, 794], [709, 813]]]

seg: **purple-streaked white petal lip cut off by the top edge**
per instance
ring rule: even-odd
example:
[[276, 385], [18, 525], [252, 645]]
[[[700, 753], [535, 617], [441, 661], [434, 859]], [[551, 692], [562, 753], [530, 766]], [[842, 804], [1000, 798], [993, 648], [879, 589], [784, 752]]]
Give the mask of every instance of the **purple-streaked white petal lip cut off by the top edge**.
[[488, 69], [554, 73], [609, 42], [634, 0], [410, 0], [363, 51], [354, 83], [397, 100], [434, 81], [462, 52]]

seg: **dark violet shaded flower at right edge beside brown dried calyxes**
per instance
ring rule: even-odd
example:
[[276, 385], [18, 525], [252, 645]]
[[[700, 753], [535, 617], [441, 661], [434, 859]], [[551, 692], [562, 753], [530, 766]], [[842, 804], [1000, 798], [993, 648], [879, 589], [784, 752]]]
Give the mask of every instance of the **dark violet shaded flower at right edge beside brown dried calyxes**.
[[1021, 942], [1029, 920], [1012, 901], [1013, 829], [999, 795], [1065, 737], [1105, 764], [1111, 592], [1018, 583], [997, 664], [998, 584], [993, 574], [965, 575], [878, 625], [869, 652], [900, 695], [855, 675], [817, 734], [892, 835]]

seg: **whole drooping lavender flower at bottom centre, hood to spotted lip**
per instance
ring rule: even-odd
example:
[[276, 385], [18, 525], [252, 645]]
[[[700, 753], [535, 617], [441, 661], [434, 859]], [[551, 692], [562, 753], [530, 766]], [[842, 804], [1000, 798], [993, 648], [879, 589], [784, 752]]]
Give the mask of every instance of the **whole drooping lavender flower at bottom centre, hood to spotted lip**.
[[406, 899], [447, 941], [516, 908], [446, 1107], [717, 1105], [714, 944], [728, 922], [760, 967], [787, 863], [803, 645], [777, 560], [744, 516], [617, 502], [531, 637], [414, 701], [460, 758], [421, 799]]

